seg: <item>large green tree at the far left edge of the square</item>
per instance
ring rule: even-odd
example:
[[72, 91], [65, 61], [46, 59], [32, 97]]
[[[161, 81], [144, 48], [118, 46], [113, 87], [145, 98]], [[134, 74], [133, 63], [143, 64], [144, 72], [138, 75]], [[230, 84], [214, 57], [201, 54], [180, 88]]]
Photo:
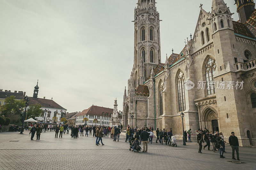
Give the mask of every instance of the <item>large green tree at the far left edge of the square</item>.
[[5, 100], [5, 105], [1, 107], [1, 112], [3, 115], [7, 113], [13, 113], [13, 114], [21, 114], [22, 110], [20, 111], [20, 107], [25, 107], [25, 101], [22, 100], [16, 100], [15, 96], [7, 97]]

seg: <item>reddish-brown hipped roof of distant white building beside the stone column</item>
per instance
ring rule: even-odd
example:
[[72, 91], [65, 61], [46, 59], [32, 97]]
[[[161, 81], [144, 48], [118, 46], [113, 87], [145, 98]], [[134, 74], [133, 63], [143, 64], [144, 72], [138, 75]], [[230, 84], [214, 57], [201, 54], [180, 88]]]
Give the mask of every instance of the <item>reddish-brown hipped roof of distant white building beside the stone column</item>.
[[89, 107], [88, 109], [84, 109], [79, 115], [96, 115], [96, 116], [102, 116], [102, 113], [104, 112], [104, 114], [108, 113], [108, 115], [104, 115], [107, 117], [111, 117], [111, 114], [113, 114], [113, 110], [111, 108], [107, 108], [107, 107], [100, 107], [100, 106], [94, 106], [92, 105], [91, 107]]

